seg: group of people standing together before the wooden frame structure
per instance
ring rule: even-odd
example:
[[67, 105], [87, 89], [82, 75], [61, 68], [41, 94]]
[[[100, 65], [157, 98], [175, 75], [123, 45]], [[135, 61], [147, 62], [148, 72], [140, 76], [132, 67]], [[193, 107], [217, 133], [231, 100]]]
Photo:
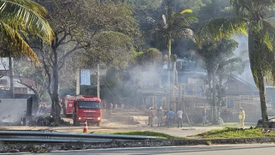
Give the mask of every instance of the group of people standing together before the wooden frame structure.
[[[157, 114], [157, 115], [156, 115]], [[174, 120], [176, 118], [178, 123], [178, 128], [183, 128], [183, 111], [181, 109], [178, 109], [176, 116], [173, 112], [173, 109], [170, 109], [170, 111], [167, 111], [167, 109], [162, 109], [160, 106], [159, 109], [157, 109], [157, 113], [154, 111], [154, 107], [149, 108], [149, 118], [148, 118], [148, 125], [153, 127], [154, 125], [154, 118], [157, 116], [158, 123], [157, 125], [169, 125], [169, 128], [172, 128], [172, 125], [174, 123]]]

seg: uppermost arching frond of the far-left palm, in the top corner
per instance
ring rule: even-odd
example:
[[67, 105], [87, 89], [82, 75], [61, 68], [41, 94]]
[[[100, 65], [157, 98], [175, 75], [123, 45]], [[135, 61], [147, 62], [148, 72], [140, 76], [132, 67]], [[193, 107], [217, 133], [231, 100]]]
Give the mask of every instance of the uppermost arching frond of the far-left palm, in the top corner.
[[0, 20], [15, 30], [30, 32], [51, 42], [53, 31], [44, 16], [47, 10], [30, 0], [0, 0]]

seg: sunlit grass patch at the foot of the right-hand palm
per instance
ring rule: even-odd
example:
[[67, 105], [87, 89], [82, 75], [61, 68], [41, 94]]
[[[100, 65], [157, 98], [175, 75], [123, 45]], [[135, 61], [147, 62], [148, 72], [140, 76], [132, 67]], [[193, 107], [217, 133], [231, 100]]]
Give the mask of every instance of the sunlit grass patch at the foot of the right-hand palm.
[[209, 138], [209, 139], [220, 139], [220, 138], [250, 138], [250, 137], [275, 137], [275, 132], [269, 132], [264, 134], [262, 128], [224, 128], [221, 130], [211, 130], [204, 132], [199, 135], [190, 136], [189, 138]]

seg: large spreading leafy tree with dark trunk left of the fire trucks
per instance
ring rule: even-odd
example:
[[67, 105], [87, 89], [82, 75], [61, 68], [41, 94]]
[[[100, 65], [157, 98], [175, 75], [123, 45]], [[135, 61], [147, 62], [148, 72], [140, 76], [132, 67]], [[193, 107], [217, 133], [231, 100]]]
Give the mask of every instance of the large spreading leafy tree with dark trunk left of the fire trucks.
[[[51, 46], [44, 46], [41, 55], [44, 69], [49, 77], [47, 78], [47, 92], [51, 97], [52, 115], [54, 120], [59, 122], [61, 111], [59, 73], [66, 65], [67, 58], [75, 52], [78, 52], [79, 55], [83, 54], [86, 49], [89, 49], [87, 52], [96, 51], [99, 48], [97, 45], [102, 44], [98, 38], [102, 37], [110, 40], [113, 35], [114, 39], [114, 32], [129, 36], [137, 35], [136, 27], [138, 25], [132, 17], [132, 11], [128, 4], [122, 2], [51, 0], [51, 3], [49, 1], [39, 1], [39, 3], [49, 9], [49, 16], [51, 16], [49, 22], [55, 33]], [[106, 38], [104, 38], [104, 35]], [[125, 37], [125, 39], [128, 38]], [[116, 41], [119, 42], [119, 40]], [[106, 45], [107, 43], [101, 47]], [[108, 44], [108, 46], [111, 46], [111, 44]], [[119, 46], [115, 47], [119, 48]], [[122, 61], [118, 63], [122, 63]], [[79, 67], [75, 66], [72, 70]]]

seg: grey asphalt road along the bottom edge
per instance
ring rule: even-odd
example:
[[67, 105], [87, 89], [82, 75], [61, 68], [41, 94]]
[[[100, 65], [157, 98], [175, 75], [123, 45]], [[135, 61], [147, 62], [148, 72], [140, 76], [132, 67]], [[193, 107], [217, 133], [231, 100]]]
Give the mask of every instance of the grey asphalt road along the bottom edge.
[[82, 151], [53, 151], [49, 155], [97, 154], [97, 155], [142, 155], [142, 154], [172, 154], [172, 155], [269, 155], [274, 154], [275, 144], [248, 144], [248, 145], [216, 145], [196, 147], [147, 147], [147, 148], [118, 148], [97, 149]]

